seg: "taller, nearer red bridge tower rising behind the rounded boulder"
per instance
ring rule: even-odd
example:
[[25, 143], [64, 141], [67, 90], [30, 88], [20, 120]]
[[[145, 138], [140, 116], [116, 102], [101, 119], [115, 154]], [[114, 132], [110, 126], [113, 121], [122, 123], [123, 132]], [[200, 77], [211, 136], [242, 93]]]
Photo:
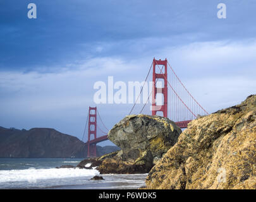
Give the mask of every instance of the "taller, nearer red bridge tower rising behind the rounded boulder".
[[[160, 68], [159, 66], [162, 66]], [[157, 69], [161, 69], [160, 73], [156, 73]], [[160, 70], [159, 70], [160, 71]], [[167, 59], [164, 61], [157, 61], [155, 58], [153, 60], [153, 85], [152, 85], [152, 116], [156, 115], [157, 112], [162, 112], [163, 117], [168, 117], [168, 81], [167, 81]], [[164, 80], [164, 87], [157, 87], [157, 82], [159, 79]], [[163, 105], [156, 104], [157, 94], [162, 94], [164, 97]]]

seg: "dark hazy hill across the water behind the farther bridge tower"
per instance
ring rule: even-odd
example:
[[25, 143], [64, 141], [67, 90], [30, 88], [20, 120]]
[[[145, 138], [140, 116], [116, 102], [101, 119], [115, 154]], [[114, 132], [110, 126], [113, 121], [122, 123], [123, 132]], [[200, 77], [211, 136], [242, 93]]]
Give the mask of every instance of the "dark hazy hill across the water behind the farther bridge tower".
[[[119, 150], [97, 146], [97, 156]], [[85, 158], [87, 146], [78, 138], [51, 128], [30, 130], [0, 126], [0, 158]]]

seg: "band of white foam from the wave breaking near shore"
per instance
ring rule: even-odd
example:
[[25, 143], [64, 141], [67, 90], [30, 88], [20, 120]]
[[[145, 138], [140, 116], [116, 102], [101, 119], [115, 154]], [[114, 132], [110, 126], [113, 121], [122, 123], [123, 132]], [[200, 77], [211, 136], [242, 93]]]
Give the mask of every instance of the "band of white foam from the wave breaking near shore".
[[99, 175], [94, 169], [26, 169], [26, 170], [0, 170], [0, 182], [37, 182], [41, 179], [60, 179], [66, 177], [87, 177]]

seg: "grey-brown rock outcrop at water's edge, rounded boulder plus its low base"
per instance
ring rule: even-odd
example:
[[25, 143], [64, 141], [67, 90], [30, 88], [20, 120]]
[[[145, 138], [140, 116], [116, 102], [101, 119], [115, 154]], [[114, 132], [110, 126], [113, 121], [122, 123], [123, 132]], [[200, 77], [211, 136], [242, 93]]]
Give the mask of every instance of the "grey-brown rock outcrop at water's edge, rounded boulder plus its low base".
[[101, 174], [147, 173], [176, 143], [180, 133], [181, 129], [164, 117], [126, 116], [108, 133], [109, 140], [121, 150], [97, 158], [97, 169]]

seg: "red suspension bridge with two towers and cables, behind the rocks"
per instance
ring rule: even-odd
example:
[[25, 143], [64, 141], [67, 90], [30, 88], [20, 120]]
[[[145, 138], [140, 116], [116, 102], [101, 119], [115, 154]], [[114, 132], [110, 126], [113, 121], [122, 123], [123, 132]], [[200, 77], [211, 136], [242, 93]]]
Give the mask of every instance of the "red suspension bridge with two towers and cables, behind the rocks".
[[[150, 81], [152, 82], [152, 90], [150, 90], [147, 102], [140, 104], [138, 100], [140, 100], [143, 88], [145, 88], [145, 83]], [[161, 100], [161, 103], [159, 103], [159, 100]], [[129, 112], [130, 114], [168, 117], [180, 128], [187, 128], [190, 121], [197, 118], [197, 116], [207, 115], [208, 112], [188, 92], [168, 60], [161, 61], [161, 59], [156, 60], [154, 58], [136, 102]], [[97, 117], [99, 117], [98, 121]], [[96, 157], [96, 145], [108, 140], [108, 131], [109, 129], [102, 121], [97, 107], [89, 107], [82, 138], [82, 141], [85, 141], [85, 134], [87, 133], [88, 139], [85, 142], [87, 157]], [[97, 134], [100, 135], [97, 136]]]

